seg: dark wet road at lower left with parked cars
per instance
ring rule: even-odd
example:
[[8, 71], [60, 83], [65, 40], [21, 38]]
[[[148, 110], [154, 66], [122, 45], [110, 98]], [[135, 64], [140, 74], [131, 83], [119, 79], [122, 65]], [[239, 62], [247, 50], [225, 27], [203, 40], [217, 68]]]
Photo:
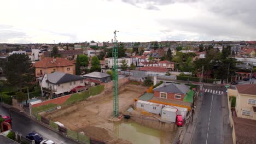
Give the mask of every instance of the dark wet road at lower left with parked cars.
[[[9, 116], [9, 110], [0, 106], [0, 114]], [[77, 142], [74, 142], [65, 136], [55, 133], [54, 131], [48, 128], [45, 128], [43, 125], [40, 125], [39, 123], [34, 122], [30, 118], [20, 115], [15, 111], [11, 112], [11, 118], [13, 118], [12, 129], [14, 131], [18, 131], [19, 133], [21, 133], [22, 136], [26, 136], [31, 131], [36, 131], [38, 134], [43, 136], [44, 139], [53, 140], [57, 144], [62, 144], [62, 143], [77, 144]]]

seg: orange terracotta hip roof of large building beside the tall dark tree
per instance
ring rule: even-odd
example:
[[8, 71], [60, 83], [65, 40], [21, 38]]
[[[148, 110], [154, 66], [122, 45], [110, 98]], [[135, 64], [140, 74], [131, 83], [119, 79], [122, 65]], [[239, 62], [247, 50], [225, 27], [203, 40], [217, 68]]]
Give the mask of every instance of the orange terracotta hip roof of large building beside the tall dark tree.
[[51, 68], [51, 67], [66, 67], [69, 65], [74, 65], [73, 61], [69, 61], [68, 59], [56, 57], [56, 61], [54, 58], [45, 57], [41, 61], [34, 63], [34, 67], [36, 68]]

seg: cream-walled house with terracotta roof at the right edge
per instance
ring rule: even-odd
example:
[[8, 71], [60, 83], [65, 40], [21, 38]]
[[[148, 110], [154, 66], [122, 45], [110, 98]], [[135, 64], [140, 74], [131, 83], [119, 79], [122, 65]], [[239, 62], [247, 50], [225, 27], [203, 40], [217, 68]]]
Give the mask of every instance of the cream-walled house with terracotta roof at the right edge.
[[256, 84], [237, 85], [237, 117], [256, 120]]

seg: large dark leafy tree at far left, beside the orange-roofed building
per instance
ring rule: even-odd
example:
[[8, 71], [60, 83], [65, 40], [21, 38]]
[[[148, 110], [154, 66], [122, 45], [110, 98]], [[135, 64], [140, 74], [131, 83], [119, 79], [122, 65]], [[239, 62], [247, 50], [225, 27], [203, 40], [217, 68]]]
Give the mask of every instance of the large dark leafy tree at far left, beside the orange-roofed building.
[[31, 82], [34, 82], [34, 68], [27, 55], [15, 53], [9, 56], [5, 64], [5, 70], [8, 83], [18, 89], [29, 86]]

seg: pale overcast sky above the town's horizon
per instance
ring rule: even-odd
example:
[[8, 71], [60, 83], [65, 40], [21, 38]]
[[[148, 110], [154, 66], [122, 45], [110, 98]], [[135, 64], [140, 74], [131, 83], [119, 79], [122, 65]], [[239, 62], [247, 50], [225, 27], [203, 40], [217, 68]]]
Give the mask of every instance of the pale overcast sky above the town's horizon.
[[0, 43], [256, 40], [254, 0], [0, 1]]

